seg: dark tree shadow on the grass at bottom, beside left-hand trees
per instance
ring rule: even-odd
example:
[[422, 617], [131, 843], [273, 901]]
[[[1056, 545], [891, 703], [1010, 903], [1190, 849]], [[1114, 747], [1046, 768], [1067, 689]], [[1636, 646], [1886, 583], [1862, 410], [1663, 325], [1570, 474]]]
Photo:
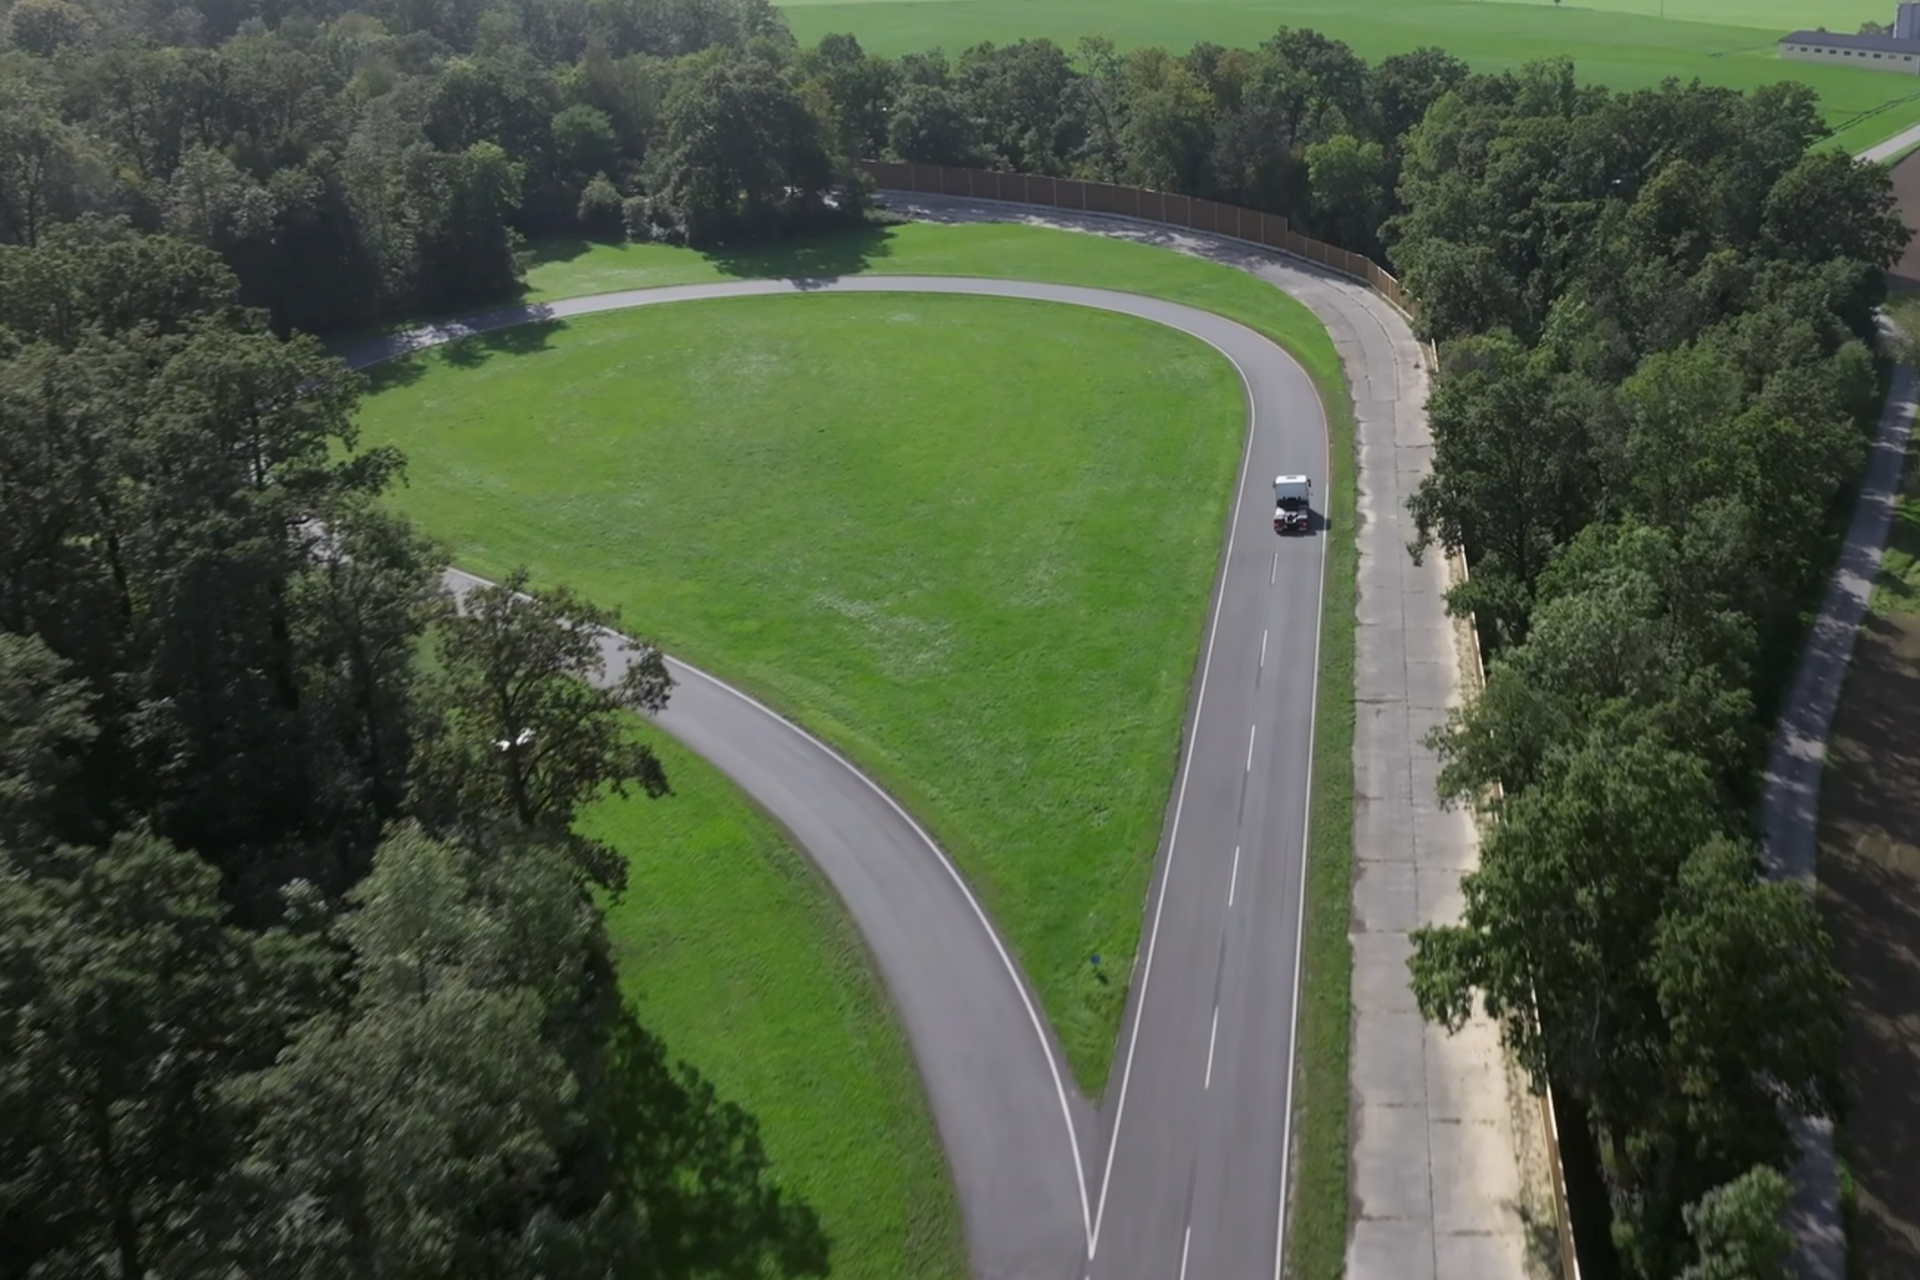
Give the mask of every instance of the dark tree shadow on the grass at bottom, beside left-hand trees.
[[647, 1226], [647, 1276], [826, 1276], [820, 1215], [778, 1184], [760, 1125], [699, 1071], [668, 1063], [632, 1009], [607, 1042], [605, 1121]]

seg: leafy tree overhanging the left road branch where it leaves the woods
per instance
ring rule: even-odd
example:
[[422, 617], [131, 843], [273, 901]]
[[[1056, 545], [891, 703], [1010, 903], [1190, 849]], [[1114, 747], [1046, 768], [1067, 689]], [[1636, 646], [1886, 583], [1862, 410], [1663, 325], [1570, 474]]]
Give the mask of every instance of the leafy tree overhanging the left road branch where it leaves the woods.
[[660, 712], [674, 681], [659, 649], [614, 635], [618, 622], [564, 587], [528, 589], [524, 570], [470, 589], [440, 631], [426, 798], [445, 814], [564, 835], [603, 791], [666, 794], [666, 771], [628, 714]]

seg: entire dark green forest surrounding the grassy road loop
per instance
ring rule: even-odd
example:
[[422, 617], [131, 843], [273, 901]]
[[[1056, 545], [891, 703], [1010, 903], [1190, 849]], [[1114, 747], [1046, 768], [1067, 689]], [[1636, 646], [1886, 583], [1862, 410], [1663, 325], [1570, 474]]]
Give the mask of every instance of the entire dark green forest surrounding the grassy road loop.
[[1847, 1100], [1759, 766], [1910, 234], [1809, 90], [1288, 29], [887, 59], [764, 0], [0, 29], [0, 1274], [824, 1272], [751, 1117], [612, 994], [620, 860], [570, 823], [670, 785], [624, 731], [659, 654], [595, 691], [586, 601], [451, 610], [311, 334], [511, 297], [551, 236], [831, 234], [862, 157], [1208, 196], [1400, 274], [1440, 353], [1409, 553], [1467, 557], [1488, 654], [1434, 741], [1488, 835], [1421, 1007], [1484, 1002], [1584, 1115], [1628, 1274], [1766, 1234], [1788, 1117]]

